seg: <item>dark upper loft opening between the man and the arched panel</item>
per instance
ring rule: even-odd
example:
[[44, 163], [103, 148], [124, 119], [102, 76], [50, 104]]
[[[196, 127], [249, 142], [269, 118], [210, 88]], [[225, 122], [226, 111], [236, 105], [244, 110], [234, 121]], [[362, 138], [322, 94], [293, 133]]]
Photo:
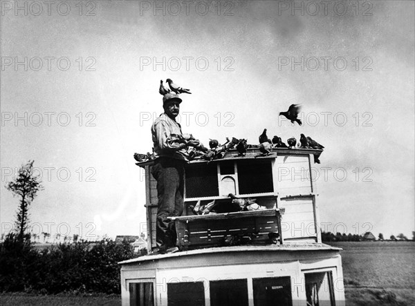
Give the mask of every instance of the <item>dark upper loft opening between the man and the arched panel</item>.
[[216, 163], [189, 164], [185, 171], [185, 197], [199, 198], [219, 195]]

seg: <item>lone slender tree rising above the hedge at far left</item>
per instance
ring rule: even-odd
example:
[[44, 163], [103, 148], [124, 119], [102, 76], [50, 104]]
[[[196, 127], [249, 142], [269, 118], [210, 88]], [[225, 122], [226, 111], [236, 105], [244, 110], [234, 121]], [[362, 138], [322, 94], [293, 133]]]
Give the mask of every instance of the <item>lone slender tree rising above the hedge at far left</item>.
[[29, 205], [36, 197], [37, 192], [43, 190], [39, 175], [35, 175], [33, 171], [33, 162], [35, 161], [29, 160], [27, 164], [21, 166], [15, 180], [6, 184], [6, 189], [12, 191], [13, 196], [20, 198], [16, 220], [16, 229], [20, 240], [24, 239], [24, 233], [28, 229]]

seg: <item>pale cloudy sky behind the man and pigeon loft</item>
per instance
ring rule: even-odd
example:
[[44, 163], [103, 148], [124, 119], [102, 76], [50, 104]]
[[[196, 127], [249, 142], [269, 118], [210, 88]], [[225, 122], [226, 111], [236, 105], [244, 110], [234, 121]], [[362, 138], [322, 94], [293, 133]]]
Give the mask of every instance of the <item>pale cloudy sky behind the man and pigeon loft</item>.
[[[1, 233], [5, 185], [35, 160], [34, 233], [94, 240], [145, 231], [144, 171], [160, 79], [183, 133], [304, 133], [322, 228], [415, 230], [413, 1], [1, 1]], [[302, 104], [303, 126], [280, 111]]]

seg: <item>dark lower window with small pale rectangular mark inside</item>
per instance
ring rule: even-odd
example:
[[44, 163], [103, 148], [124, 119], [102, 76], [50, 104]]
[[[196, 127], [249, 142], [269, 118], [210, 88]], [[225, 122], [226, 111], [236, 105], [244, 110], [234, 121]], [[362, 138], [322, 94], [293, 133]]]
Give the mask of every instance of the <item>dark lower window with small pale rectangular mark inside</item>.
[[255, 306], [291, 306], [291, 279], [290, 276], [275, 278], [254, 278]]

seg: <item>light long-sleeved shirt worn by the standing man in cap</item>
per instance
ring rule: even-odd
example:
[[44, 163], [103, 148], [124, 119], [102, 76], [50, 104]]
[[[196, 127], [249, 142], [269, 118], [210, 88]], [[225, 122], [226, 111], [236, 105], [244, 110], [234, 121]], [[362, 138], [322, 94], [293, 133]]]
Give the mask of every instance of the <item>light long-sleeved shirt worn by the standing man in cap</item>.
[[183, 135], [181, 125], [163, 113], [154, 120], [151, 126], [154, 154], [156, 157], [170, 157], [188, 162], [187, 151], [185, 149], [178, 150], [178, 142], [169, 141], [172, 140], [172, 134]]

